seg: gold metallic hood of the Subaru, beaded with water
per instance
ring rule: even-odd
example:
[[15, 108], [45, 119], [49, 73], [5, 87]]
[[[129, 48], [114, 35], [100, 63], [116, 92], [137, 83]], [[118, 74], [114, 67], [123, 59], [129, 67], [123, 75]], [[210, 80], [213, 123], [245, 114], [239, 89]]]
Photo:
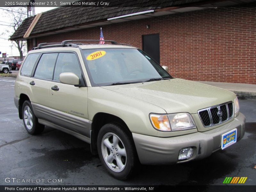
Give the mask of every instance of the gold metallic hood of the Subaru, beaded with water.
[[179, 78], [102, 88], [146, 101], [166, 113], [195, 114], [199, 109], [233, 101], [236, 97], [233, 92]]

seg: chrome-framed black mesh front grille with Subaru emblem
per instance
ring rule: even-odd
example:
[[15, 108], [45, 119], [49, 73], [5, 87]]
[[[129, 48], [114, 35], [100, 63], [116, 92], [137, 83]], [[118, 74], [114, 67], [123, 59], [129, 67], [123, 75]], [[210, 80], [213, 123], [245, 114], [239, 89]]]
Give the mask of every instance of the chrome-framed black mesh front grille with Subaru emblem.
[[228, 121], [233, 117], [231, 101], [197, 111], [204, 127], [211, 127]]

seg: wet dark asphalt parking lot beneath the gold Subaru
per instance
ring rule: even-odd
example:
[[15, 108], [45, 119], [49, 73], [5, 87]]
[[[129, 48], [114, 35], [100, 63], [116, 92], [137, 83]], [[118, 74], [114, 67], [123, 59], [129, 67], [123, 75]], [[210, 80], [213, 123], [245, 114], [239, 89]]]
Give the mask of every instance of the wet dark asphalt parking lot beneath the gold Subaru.
[[89, 144], [50, 127], [43, 134], [29, 135], [13, 103], [14, 82], [14, 77], [0, 77], [0, 185], [222, 185], [226, 177], [235, 176], [248, 177], [244, 185], [256, 184], [256, 99], [239, 100], [247, 123], [238, 143], [200, 161], [143, 165], [138, 175], [120, 181], [108, 175]]

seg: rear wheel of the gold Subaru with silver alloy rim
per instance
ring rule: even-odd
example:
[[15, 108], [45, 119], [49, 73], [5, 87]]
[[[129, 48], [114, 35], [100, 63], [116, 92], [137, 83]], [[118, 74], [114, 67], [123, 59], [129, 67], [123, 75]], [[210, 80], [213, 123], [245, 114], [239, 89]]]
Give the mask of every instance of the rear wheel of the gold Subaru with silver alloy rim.
[[38, 123], [38, 119], [33, 111], [30, 101], [24, 101], [22, 105], [22, 119], [27, 132], [31, 135], [44, 131], [44, 125]]

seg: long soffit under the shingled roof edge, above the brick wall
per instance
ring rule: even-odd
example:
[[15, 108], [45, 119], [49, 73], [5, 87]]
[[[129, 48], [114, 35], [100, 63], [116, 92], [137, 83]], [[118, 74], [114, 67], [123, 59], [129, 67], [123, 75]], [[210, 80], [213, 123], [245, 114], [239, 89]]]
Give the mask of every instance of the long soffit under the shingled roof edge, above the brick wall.
[[[59, 31], [54, 31], [54, 32], [49, 32], [49, 33], [44, 33], [41, 35], [37, 35], [37, 36], [30, 36], [31, 37], [39, 37], [39, 36], [48, 36], [51, 34], [56, 34], [56, 33], [63, 33], [63, 32], [68, 32], [68, 31], [74, 31], [74, 30], [79, 30], [79, 29], [83, 29], [83, 28], [92, 28], [95, 26], [103, 26], [103, 25], [108, 25], [108, 24], [112, 24], [112, 23], [121, 23], [121, 22], [125, 22], [125, 21], [131, 21], [131, 20], [140, 20], [140, 19], [145, 19], [145, 18], [150, 18], [150, 17], [158, 17], [158, 16], [163, 16], [163, 15], [170, 15], [170, 14], [175, 14], [175, 13], [181, 13], [181, 12], [190, 12], [190, 11], [197, 11], [197, 10], [203, 10], [203, 9], [214, 9], [214, 7], [223, 7], [223, 6], [230, 6], [230, 5], [237, 5], [237, 4], [244, 4], [244, 3], [251, 3], [251, 2], [255, 2], [255, 0], [230, 0], [230, 1], [222, 1], [222, 2], [217, 2], [217, 3], [211, 3], [211, 4], [204, 4], [201, 5], [200, 7], [182, 7], [182, 8], [178, 8], [178, 9], [171, 9], [171, 10], [167, 10], [167, 11], [159, 11], [159, 12], [148, 12], [146, 14], [135, 14], [133, 16], [128, 16], [126, 17], [121, 16], [120, 19], [111, 19], [111, 20], [107, 20], [107, 21], [101, 21], [99, 23], [93, 23], [93, 24], [87, 24], [87, 25], [83, 25], [83, 26], [76, 26], [76, 27], [71, 27], [71, 28], [67, 28], [67, 29], [61, 29]], [[130, 14], [131, 15], [131, 14]]]

